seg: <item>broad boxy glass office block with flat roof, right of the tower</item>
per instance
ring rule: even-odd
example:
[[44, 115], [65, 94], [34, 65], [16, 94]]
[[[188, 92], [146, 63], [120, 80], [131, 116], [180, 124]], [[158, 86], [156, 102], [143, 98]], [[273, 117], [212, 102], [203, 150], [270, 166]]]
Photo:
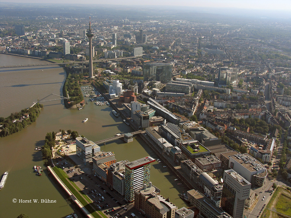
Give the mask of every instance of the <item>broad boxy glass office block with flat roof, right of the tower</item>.
[[146, 63], [143, 65], [143, 80], [169, 83], [172, 78], [173, 66], [168, 63]]

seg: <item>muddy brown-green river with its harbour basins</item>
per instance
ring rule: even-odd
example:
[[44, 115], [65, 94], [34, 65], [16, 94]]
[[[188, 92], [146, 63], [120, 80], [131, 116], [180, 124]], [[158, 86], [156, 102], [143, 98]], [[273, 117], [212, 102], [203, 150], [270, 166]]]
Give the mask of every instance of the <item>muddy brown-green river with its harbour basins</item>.
[[[0, 54], [0, 66], [39, 63], [44, 61]], [[62, 67], [56, 66], [0, 68], [0, 78], [0, 117], [7, 117], [11, 112], [31, 106], [37, 99], [52, 93], [62, 95], [65, 72]], [[57, 98], [49, 96], [46, 99]], [[112, 115], [112, 109], [108, 106], [96, 106], [89, 101], [82, 110], [68, 110], [61, 100], [42, 104], [44, 107], [35, 123], [18, 133], [0, 138], [0, 175], [5, 171], [9, 172], [6, 184], [0, 191], [1, 218], [17, 217], [21, 213], [29, 215], [30, 218], [64, 217], [73, 212], [74, 206], [67, 205], [67, 196], [47, 176], [47, 172], [44, 171], [42, 176], [36, 176], [33, 172], [34, 165], [43, 166], [41, 152], [34, 149], [43, 145], [47, 132], [56, 132], [59, 129], [76, 130], [95, 142], [116, 133], [132, 131], [123, 123], [122, 118]], [[89, 120], [82, 123], [86, 117]], [[133, 161], [154, 156], [140, 137], [135, 137], [128, 144], [120, 140], [109, 142], [102, 145], [101, 149], [113, 151], [117, 161]], [[185, 190], [176, 185], [174, 177], [165, 169], [157, 162], [151, 165], [152, 184], [161, 189], [161, 194], [165, 198], [169, 197], [178, 208], [186, 206], [178, 196], [179, 192]], [[13, 199], [17, 199], [17, 202], [13, 203]], [[19, 199], [31, 199], [32, 202], [33, 199], [49, 199], [56, 200], [57, 203], [19, 203]]]

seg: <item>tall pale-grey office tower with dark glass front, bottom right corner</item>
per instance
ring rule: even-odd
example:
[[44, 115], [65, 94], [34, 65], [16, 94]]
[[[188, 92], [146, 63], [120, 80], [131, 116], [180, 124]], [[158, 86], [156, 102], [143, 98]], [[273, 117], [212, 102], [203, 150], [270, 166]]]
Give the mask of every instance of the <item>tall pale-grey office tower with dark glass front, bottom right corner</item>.
[[233, 218], [241, 218], [244, 214], [244, 201], [250, 196], [251, 183], [233, 169], [223, 173], [221, 208]]

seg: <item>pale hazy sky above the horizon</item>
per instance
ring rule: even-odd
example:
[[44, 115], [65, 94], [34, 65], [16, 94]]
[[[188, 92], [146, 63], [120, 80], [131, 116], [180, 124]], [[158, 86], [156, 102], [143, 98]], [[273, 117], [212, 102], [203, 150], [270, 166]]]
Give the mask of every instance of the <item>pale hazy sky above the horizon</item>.
[[68, 4], [114, 4], [114, 5], [159, 5], [211, 8], [249, 8], [263, 10], [291, 10], [291, 0], [0, 0], [20, 3], [68, 3]]

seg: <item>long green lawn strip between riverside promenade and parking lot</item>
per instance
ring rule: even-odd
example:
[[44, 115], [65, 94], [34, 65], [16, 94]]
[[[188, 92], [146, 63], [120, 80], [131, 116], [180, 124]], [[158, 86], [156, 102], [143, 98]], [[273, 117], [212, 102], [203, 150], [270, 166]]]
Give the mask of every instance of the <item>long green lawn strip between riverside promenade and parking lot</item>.
[[[97, 211], [95, 211], [92, 206], [90, 205], [90, 203], [92, 201], [90, 199], [88, 199], [88, 202], [82, 197], [82, 195], [74, 189], [74, 187], [72, 187], [72, 183], [70, 181], [68, 181], [66, 178], [68, 178], [68, 176], [65, 174], [65, 172], [58, 168], [58, 167], [53, 167], [52, 168], [54, 170], [54, 172], [58, 175], [58, 177], [61, 179], [61, 181], [63, 181], [63, 183], [67, 186], [67, 188], [74, 194], [74, 196], [80, 201], [80, 203], [84, 206], [84, 208], [86, 208], [86, 210], [88, 210], [88, 212], [96, 218], [101, 218], [100, 215], [97, 213]], [[74, 186], [76, 186], [76, 184], [74, 184]], [[79, 190], [79, 188], [77, 188]], [[101, 212], [101, 211], [100, 211]]]

